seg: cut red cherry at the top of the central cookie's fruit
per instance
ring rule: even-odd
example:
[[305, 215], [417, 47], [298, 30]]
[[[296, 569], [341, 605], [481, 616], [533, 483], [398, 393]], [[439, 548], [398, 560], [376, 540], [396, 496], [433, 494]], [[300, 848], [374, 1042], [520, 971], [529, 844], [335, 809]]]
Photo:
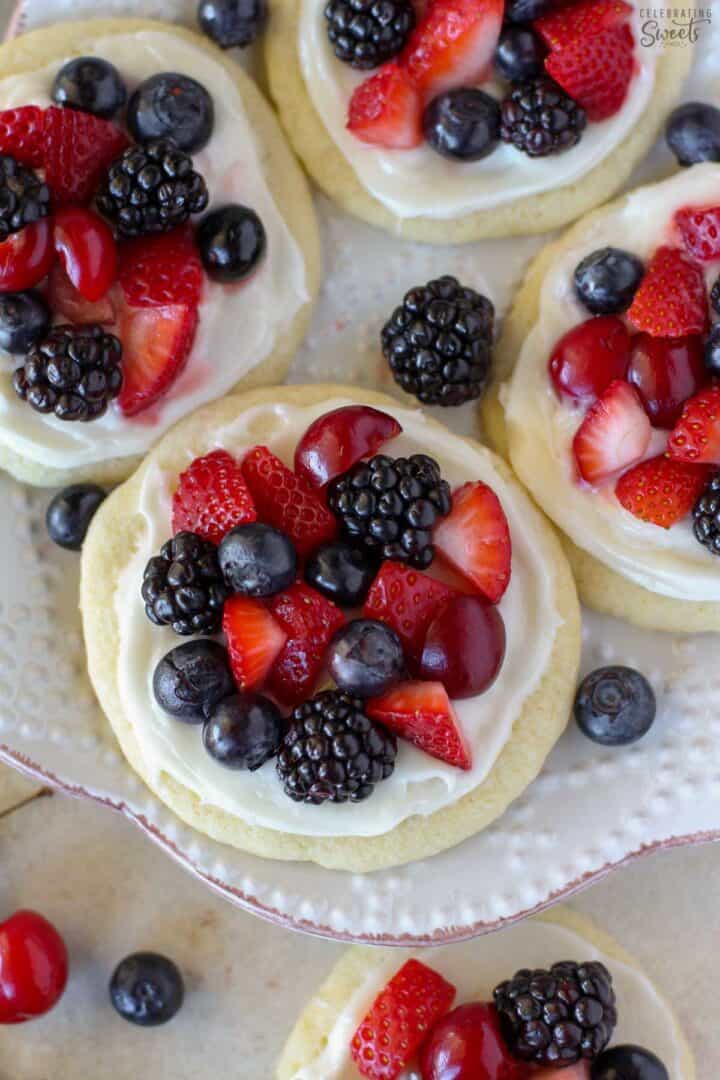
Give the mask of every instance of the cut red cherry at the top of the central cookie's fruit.
[[395, 417], [369, 405], [332, 409], [313, 420], [298, 443], [295, 471], [313, 487], [324, 487], [402, 431]]

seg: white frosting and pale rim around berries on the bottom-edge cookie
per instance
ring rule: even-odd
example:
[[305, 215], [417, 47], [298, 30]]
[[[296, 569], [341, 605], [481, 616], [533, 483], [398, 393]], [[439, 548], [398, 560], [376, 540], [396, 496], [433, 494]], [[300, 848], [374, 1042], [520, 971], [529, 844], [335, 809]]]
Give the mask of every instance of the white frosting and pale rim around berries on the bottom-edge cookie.
[[[457, 987], [454, 1004], [491, 1000], [493, 988], [520, 968], [542, 968], [558, 960], [601, 960], [612, 974], [617, 997], [619, 1024], [613, 1044], [647, 1047], [664, 1062], [673, 1080], [689, 1080], [682, 1067], [675, 1018], [647, 975], [607, 957], [573, 930], [542, 919], [530, 919], [462, 945], [416, 953], [385, 950], [382, 962], [372, 967], [347, 1002], [318, 1056], [299, 1069], [293, 1080], [358, 1080], [361, 1074], [350, 1057], [350, 1041], [378, 994], [412, 956]], [[403, 1072], [403, 1080], [420, 1080], [420, 1075], [410, 1068]]]

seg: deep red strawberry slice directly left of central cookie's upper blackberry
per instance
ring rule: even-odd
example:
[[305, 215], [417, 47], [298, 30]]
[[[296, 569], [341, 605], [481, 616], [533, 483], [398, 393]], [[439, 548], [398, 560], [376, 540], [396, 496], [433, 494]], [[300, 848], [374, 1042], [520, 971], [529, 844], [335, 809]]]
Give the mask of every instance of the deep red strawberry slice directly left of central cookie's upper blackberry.
[[243, 475], [258, 516], [286, 532], [301, 557], [335, 539], [336, 524], [323, 501], [267, 446], [256, 446], [245, 456]]

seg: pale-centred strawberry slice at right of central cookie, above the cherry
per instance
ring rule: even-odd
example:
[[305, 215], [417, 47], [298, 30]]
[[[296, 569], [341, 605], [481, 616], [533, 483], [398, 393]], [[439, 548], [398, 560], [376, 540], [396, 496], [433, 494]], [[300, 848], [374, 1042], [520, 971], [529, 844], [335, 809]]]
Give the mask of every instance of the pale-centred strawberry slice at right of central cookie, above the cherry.
[[507, 518], [494, 491], [463, 484], [452, 492], [452, 510], [435, 526], [438, 554], [497, 604], [511, 577], [512, 544]]

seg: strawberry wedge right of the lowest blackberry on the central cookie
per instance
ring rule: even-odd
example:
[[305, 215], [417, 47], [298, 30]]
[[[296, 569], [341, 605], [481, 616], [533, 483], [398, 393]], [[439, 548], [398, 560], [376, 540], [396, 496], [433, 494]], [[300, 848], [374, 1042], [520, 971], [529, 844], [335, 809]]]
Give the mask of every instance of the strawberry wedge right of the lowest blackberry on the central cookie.
[[372, 698], [367, 712], [431, 757], [472, 769], [470, 747], [441, 683], [399, 683], [381, 698]]

